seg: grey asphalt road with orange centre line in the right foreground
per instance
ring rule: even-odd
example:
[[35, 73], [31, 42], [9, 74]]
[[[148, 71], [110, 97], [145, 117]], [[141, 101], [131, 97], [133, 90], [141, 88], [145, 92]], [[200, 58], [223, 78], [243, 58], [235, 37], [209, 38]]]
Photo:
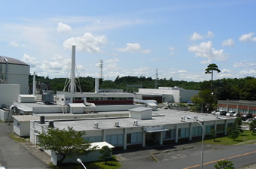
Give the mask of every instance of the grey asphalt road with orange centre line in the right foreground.
[[[190, 147], [189, 149], [180, 149]], [[191, 148], [193, 147], [193, 148]], [[179, 149], [172, 151], [172, 149]], [[172, 149], [147, 149], [136, 152], [126, 152], [117, 154], [117, 158], [126, 168], [172, 168], [172, 169], [199, 169], [200, 168], [200, 143], [190, 143], [186, 145], [174, 146]], [[215, 168], [218, 160], [233, 161], [236, 169], [245, 165], [256, 163], [256, 144], [236, 145], [236, 146], [217, 146], [206, 145], [204, 148], [204, 169]], [[157, 158], [154, 161], [151, 153]], [[160, 152], [160, 153], [158, 153]]]

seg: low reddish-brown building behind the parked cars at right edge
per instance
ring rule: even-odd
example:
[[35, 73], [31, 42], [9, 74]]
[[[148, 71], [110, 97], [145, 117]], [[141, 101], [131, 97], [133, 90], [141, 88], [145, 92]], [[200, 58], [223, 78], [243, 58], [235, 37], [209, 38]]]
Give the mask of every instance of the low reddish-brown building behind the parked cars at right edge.
[[218, 100], [218, 110], [252, 113], [256, 116], [256, 101]]

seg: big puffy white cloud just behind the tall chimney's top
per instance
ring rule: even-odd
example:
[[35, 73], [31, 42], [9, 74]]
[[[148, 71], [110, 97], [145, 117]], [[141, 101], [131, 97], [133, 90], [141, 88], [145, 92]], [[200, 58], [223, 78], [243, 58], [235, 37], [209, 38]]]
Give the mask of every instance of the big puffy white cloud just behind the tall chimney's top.
[[72, 45], [76, 46], [77, 50], [83, 50], [87, 53], [102, 53], [101, 45], [107, 43], [105, 35], [93, 35], [85, 33], [84, 36], [69, 38], [63, 42], [63, 47], [70, 49]]

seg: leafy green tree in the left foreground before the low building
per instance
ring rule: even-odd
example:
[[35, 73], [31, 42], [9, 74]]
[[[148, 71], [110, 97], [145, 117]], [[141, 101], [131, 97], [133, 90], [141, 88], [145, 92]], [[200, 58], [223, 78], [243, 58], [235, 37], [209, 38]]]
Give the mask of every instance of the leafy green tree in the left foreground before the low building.
[[83, 136], [85, 131], [75, 131], [69, 127], [68, 130], [59, 128], [49, 128], [38, 136], [39, 146], [46, 150], [53, 150], [57, 154], [62, 155], [62, 158], [57, 161], [62, 164], [66, 157], [75, 155], [86, 155], [95, 147], [91, 147]]

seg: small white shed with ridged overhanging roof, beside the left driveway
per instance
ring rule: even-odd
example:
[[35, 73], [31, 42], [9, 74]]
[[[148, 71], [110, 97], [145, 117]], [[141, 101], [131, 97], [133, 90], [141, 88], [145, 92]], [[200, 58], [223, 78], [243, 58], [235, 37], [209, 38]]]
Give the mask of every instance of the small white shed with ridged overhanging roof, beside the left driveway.
[[30, 121], [38, 120], [32, 115], [16, 115], [14, 118], [14, 133], [20, 137], [29, 137]]

